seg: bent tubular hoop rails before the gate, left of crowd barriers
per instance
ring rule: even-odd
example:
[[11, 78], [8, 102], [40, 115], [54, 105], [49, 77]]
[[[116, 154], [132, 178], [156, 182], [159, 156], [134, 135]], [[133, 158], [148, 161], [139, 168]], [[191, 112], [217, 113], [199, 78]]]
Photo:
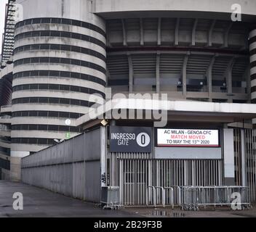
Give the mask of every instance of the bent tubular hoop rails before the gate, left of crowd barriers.
[[[153, 194], [148, 193], [148, 190], [152, 188]], [[156, 189], [161, 190], [161, 197], [159, 194], [156, 194]], [[166, 194], [166, 191], [169, 191], [169, 194]], [[151, 201], [149, 200], [151, 199]], [[158, 201], [158, 199], [161, 199], [161, 201]], [[161, 202], [161, 203], [159, 203]], [[158, 204], [159, 203], [159, 204]], [[146, 205], [153, 205], [156, 207], [157, 205], [161, 205], [162, 207], [166, 207], [166, 205], [171, 205], [172, 209], [174, 208], [174, 191], [172, 187], [161, 187], [161, 186], [147, 186], [146, 191]]]

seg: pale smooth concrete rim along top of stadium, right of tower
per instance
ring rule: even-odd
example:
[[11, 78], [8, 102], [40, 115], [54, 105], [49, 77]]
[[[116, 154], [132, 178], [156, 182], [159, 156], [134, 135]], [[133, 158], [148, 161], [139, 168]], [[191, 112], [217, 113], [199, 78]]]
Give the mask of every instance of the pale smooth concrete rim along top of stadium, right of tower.
[[[237, 4], [241, 6], [243, 21], [255, 22], [254, 0], [95, 0], [94, 12], [104, 18], [117, 17], [200, 17], [230, 20]], [[206, 14], [207, 13], [207, 14]]]

